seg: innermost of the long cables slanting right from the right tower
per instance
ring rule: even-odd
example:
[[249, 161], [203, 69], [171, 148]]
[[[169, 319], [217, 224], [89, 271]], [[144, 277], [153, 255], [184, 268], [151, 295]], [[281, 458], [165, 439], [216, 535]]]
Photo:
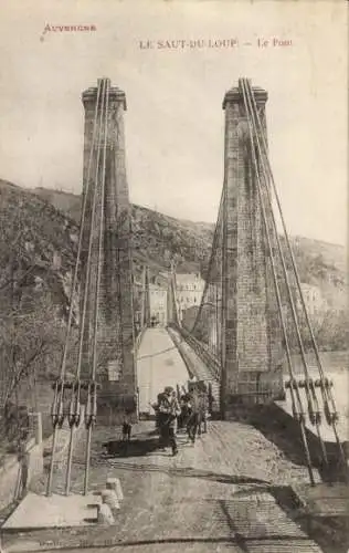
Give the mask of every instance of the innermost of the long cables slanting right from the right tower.
[[[273, 255], [273, 247], [272, 247], [272, 242], [271, 242], [269, 229], [268, 229], [268, 225], [267, 225], [265, 205], [264, 205], [262, 186], [261, 186], [261, 180], [260, 180], [260, 171], [258, 171], [258, 166], [257, 166], [257, 160], [256, 160], [254, 134], [253, 134], [253, 128], [252, 128], [251, 118], [250, 118], [250, 114], [248, 114], [246, 91], [245, 91], [244, 86], [242, 86], [242, 93], [243, 93], [244, 105], [245, 105], [245, 111], [246, 111], [246, 115], [247, 115], [247, 124], [248, 124], [250, 139], [251, 139], [251, 150], [252, 150], [253, 165], [254, 165], [254, 170], [255, 170], [255, 176], [256, 176], [256, 184], [257, 184], [257, 191], [258, 191], [258, 198], [260, 198], [260, 204], [261, 204], [263, 226], [264, 226], [264, 230], [265, 230], [265, 234], [266, 234], [266, 239], [267, 239], [267, 246], [268, 246], [268, 251], [269, 251], [269, 257], [271, 257], [272, 273], [273, 273], [273, 281], [274, 281], [274, 286], [275, 286], [275, 293], [276, 293], [276, 300], [277, 300], [279, 317], [281, 317], [281, 323], [282, 323], [282, 328], [283, 328], [284, 341], [285, 341], [285, 349], [286, 349], [288, 371], [289, 371], [289, 377], [290, 377], [290, 395], [292, 395], [293, 410], [294, 410], [295, 418], [297, 418], [297, 420], [299, 422], [300, 432], [302, 432], [302, 441], [303, 441], [306, 458], [307, 458], [307, 468], [308, 468], [308, 472], [309, 472], [309, 478], [310, 478], [311, 486], [314, 486], [315, 480], [314, 480], [310, 453], [309, 453], [309, 448], [308, 448], [306, 431], [305, 431], [304, 409], [303, 409], [303, 405], [302, 405], [298, 385], [297, 385], [297, 382], [295, 379], [294, 371], [293, 371], [290, 348], [289, 348], [289, 344], [288, 344], [286, 325], [285, 325], [285, 321], [284, 321], [281, 293], [279, 293], [275, 261], [274, 261], [274, 255]], [[295, 403], [294, 390], [295, 390], [298, 406]], [[297, 409], [297, 407], [299, 410]]]

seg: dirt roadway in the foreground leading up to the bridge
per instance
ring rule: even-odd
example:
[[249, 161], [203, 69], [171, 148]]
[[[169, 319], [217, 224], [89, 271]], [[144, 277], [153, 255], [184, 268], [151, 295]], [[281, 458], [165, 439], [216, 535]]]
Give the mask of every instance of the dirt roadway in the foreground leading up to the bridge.
[[[180, 451], [157, 449], [154, 422], [134, 428], [127, 457], [106, 457], [103, 444], [116, 429], [97, 427], [92, 444], [91, 489], [108, 476], [121, 481], [124, 501], [115, 526], [75, 528], [4, 536], [8, 553], [160, 552], [319, 553], [299, 525], [287, 484], [307, 481], [304, 467], [286, 459], [261, 432], [240, 422], [212, 421], [195, 446], [179, 436]], [[84, 441], [77, 444], [73, 491], [83, 488]], [[55, 472], [55, 492], [64, 490], [64, 467]], [[45, 479], [33, 483], [44, 491]], [[329, 551], [329, 550], [328, 550]]]

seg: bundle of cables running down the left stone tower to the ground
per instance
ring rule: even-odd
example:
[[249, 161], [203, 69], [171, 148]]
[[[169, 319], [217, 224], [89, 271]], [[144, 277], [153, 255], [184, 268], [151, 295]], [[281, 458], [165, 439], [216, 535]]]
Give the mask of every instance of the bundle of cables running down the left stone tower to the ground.
[[[99, 179], [103, 180], [103, 187], [104, 187], [104, 182], [105, 182], [108, 95], [109, 95], [108, 83], [105, 80], [98, 81], [94, 123], [93, 123], [93, 132], [92, 132], [92, 140], [91, 140], [91, 148], [89, 148], [89, 158], [88, 158], [88, 166], [87, 166], [86, 179], [85, 179], [85, 185], [84, 185], [85, 190], [84, 190], [84, 201], [83, 201], [83, 207], [82, 207], [82, 217], [81, 217], [81, 226], [80, 226], [77, 258], [76, 258], [73, 284], [72, 284], [72, 290], [71, 290], [70, 315], [68, 315], [68, 323], [67, 323], [67, 330], [66, 330], [65, 346], [64, 346], [64, 352], [63, 352], [63, 357], [62, 357], [61, 375], [60, 375], [60, 378], [54, 384], [54, 398], [53, 398], [52, 408], [51, 408], [51, 418], [52, 418], [52, 425], [53, 425], [53, 445], [52, 445], [52, 457], [51, 457], [50, 473], [49, 473], [47, 488], [46, 488], [47, 495], [50, 495], [52, 493], [53, 467], [54, 467], [57, 431], [60, 430], [60, 428], [62, 428], [65, 419], [67, 419], [68, 427], [71, 429], [67, 470], [66, 470], [66, 484], [65, 484], [65, 493], [66, 494], [70, 493], [71, 468], [72, 468], [72, 458], [73, 458], [73, 449], [74, 449], [74, 432], [75, 432], [75, 429], [81, 425], [81, 421], [82, 421], [83, 406], [82, 406], [81, 393], [83, 389], [85, 389], [87, 392], [87, 394], [86, 394], [87, 395], [87, 405], [86, 405], [86, 410], [85, 410], [85, 415], [84, 415], [84, 422], [85, 422], [85, 427], [87, 429], [87, 446], [86, 446], [86, 459], [85, 459], [85, 493], [87, 491], [86, 482], [87, 482], [87, 478], [88, 478], [88, 468], [89, 468], [91, 430], [92, 430], [92, 427], [94, 426], [94, 424], [96, 422], [97, 389], [99, 388], [99, 385], [96, 383], [96, 379], [95, 379], [95, 376], [96, 376], [96, 355], [94, 355], [95, 366], [94, 366], [94, 368], [92, 368], [91, 374], [89, 374], [89, 379], [87, 382], [81, 379], [81, 368], [82, 368], [83, 347], [84, 347], [84, 337], [85, 337], [85, 321], [86, 321], [86, 307], [87, 307], [88, 290], [89, 290], [91, 282], [92, 282], [92, 268], [91, 268], [91, 265], [92, 265], [92, 242], [93, 242], [93, 236], [95, 232], [95, 212], [96, 212], [96, 208], [97, 208], [97, 202], [96, 202], [97, 187], [98, 187], [98, 182], [101, 181]], [[103, 132], [104, 132], [104, 136], [103, 136]], [[104, 155], [104, 165], [103, 165], [103, 175], [101, 176], [99, 157], [101, 157], [102, 149], [103, 149], [103, 155]], [[91, 178], [93, 170], [95, 171], [94, 179]], [[87, 201], [89, 201], [89, 190], [91, 190], [92, 186], [94, 187], [92, 220], [91, 220], [91, 225], [88, 223], [88, 226], [87, 226], [86, 225]], [[103, 209], [103, 206], [101, 208]], [[99, 228], [98, 233], [101, 237], [101, 236], [103, 236], [103, 228], [102, 228], [103, 217], [101, 217], [99, 225], [101, 225], [101, 228]], [[83, 292], [84, 296], [83, 296], [83, 313], [82, 313], [82, 319], [81, 319], [81, 336], [80, 336], [80, 343], [78, 343], [78, 359], [77, 359], [77, 366], [76, 366], [76, 371], [75, 371], [75, 378], [74, 378], [74, 380], [71, 382], [71, 380], [66, 379], [66, 358], [67, 358], [68, 344], [70, 344], [70, 340], [71, 340], [73, 301], [74, 301], [74, 295], [76, 293], [76, 288], [77, 288], [77, 275], [78, 275], [81, 257], [82, 257], [83, 238], [84, 238], [86, 230], [88, 232], [88, 255], [87, 255], [87, 263], [86, 263], [87, 270], [85, 273], [85, 290]], [[99, 250], [101, 250], [101, 248], [102, 247], [101, 247], [101, 238], [99, 238]], [[101, 265], [101, 251], [98, 254], [98, 271], [101, 273], [99, 265]], [[97, 282], [95, 283], [97, 289], [99, 288], [99, 281], [101, 281], [101, 276], [99, 276], [99, 280], [97, 280]], [[97, 300], [96, 300], [95, 309], [96, 309], [96, 311], [98, 311], [98, 290], [96, 290], [96, 292], [97, 292]], [[96, 320], [97, 320], [97, 313], [95, 313], [95, 321]], [[96, 346], [97, 346], [97, 344], [96, 344], [96, 335], [95, 335], [94, 348], [96, 348]], [[68, 400], [67, 408], [65, 409], [64, 403], [65, 403], [66, 390], [70, 390], [70, 400]]]

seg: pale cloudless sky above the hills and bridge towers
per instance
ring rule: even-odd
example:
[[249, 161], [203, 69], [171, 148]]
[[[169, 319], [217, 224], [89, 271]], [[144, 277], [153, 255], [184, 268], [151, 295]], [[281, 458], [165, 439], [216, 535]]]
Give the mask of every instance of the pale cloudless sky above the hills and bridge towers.
[[[127, 97], [131, 201], [214, 222], [222, 101], [246, 76], [268, 92], [269, 157], [289, 232], [346, 242], [345, 0], [0, 0], [0, 178], [80, 194], [81, 94], [107, 76]], [[76, 24], [96, 30], [43, 35], [46, 25]]]

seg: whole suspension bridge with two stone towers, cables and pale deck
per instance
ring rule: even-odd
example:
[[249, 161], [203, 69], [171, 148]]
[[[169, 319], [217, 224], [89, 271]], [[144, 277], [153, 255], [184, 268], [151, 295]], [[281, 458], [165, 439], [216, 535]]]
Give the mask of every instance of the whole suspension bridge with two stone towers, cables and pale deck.
[[[88, 494], [94, 427], [98, 425], [103, 434], [101, 428], [115, 428], [125, 416], [139, 424], [163, 386], [180, 388], [188, 375], [209, 384], [212, 417], [218, 421], [229, 424], [241, 413], [273, 409], [286, 401], [310, 487], [320, 486], [318, 472], [330, 474], [327, 479], [332, 481], [348, 481], [332, 383], [311, 328], [271, 167], [266, 91], [240, 79], [224, 96], [224, 179], [211, 255], [202, 275], [204, 291], [189, 324], [179, 312], [172, 263], [167, 281], [166, 327], [151, 327], [148, 268], [144, 268], [140, 283], [134, 276], [125, 93], [112, 86], [108, 79], [101, 79], [82, 98], [82, 218], [71, 302], [80, 284], [78, 361], [71, 379], [66, 375], [73, 347], [71, 312], [60, 376], [54, 384], [47, 499], [55, 490], [55, 450], [64, 424], [71, 432], [64, 493], [72, 492], [77, 447], [84, 466], [80, 492]], [[135, 298], [140, 299], [138, 317]], [[310, 367], [307, 361], [300, 316], [306, 321], [316, 366]], [[302, 373], [295, 369], [294, 351], [300, 355]], [[76, 444], [82, 419], [86, 438]], [[218, 424], [212, 422], [213, 428]], [[224, 436], [229, 444], [231, 434]], [[204, 456], [204, 451], [201, 453]], [[234, 456], [234, 449], [230, 455]], [[255, 498], [251, 501], [254, 504]], [[302, 551], [320, 551], [311, 547]], [[200, 551], [204, 551], [203, 544]], [[239, 549], [237, 544], [236, 551], [250, 549]]]

